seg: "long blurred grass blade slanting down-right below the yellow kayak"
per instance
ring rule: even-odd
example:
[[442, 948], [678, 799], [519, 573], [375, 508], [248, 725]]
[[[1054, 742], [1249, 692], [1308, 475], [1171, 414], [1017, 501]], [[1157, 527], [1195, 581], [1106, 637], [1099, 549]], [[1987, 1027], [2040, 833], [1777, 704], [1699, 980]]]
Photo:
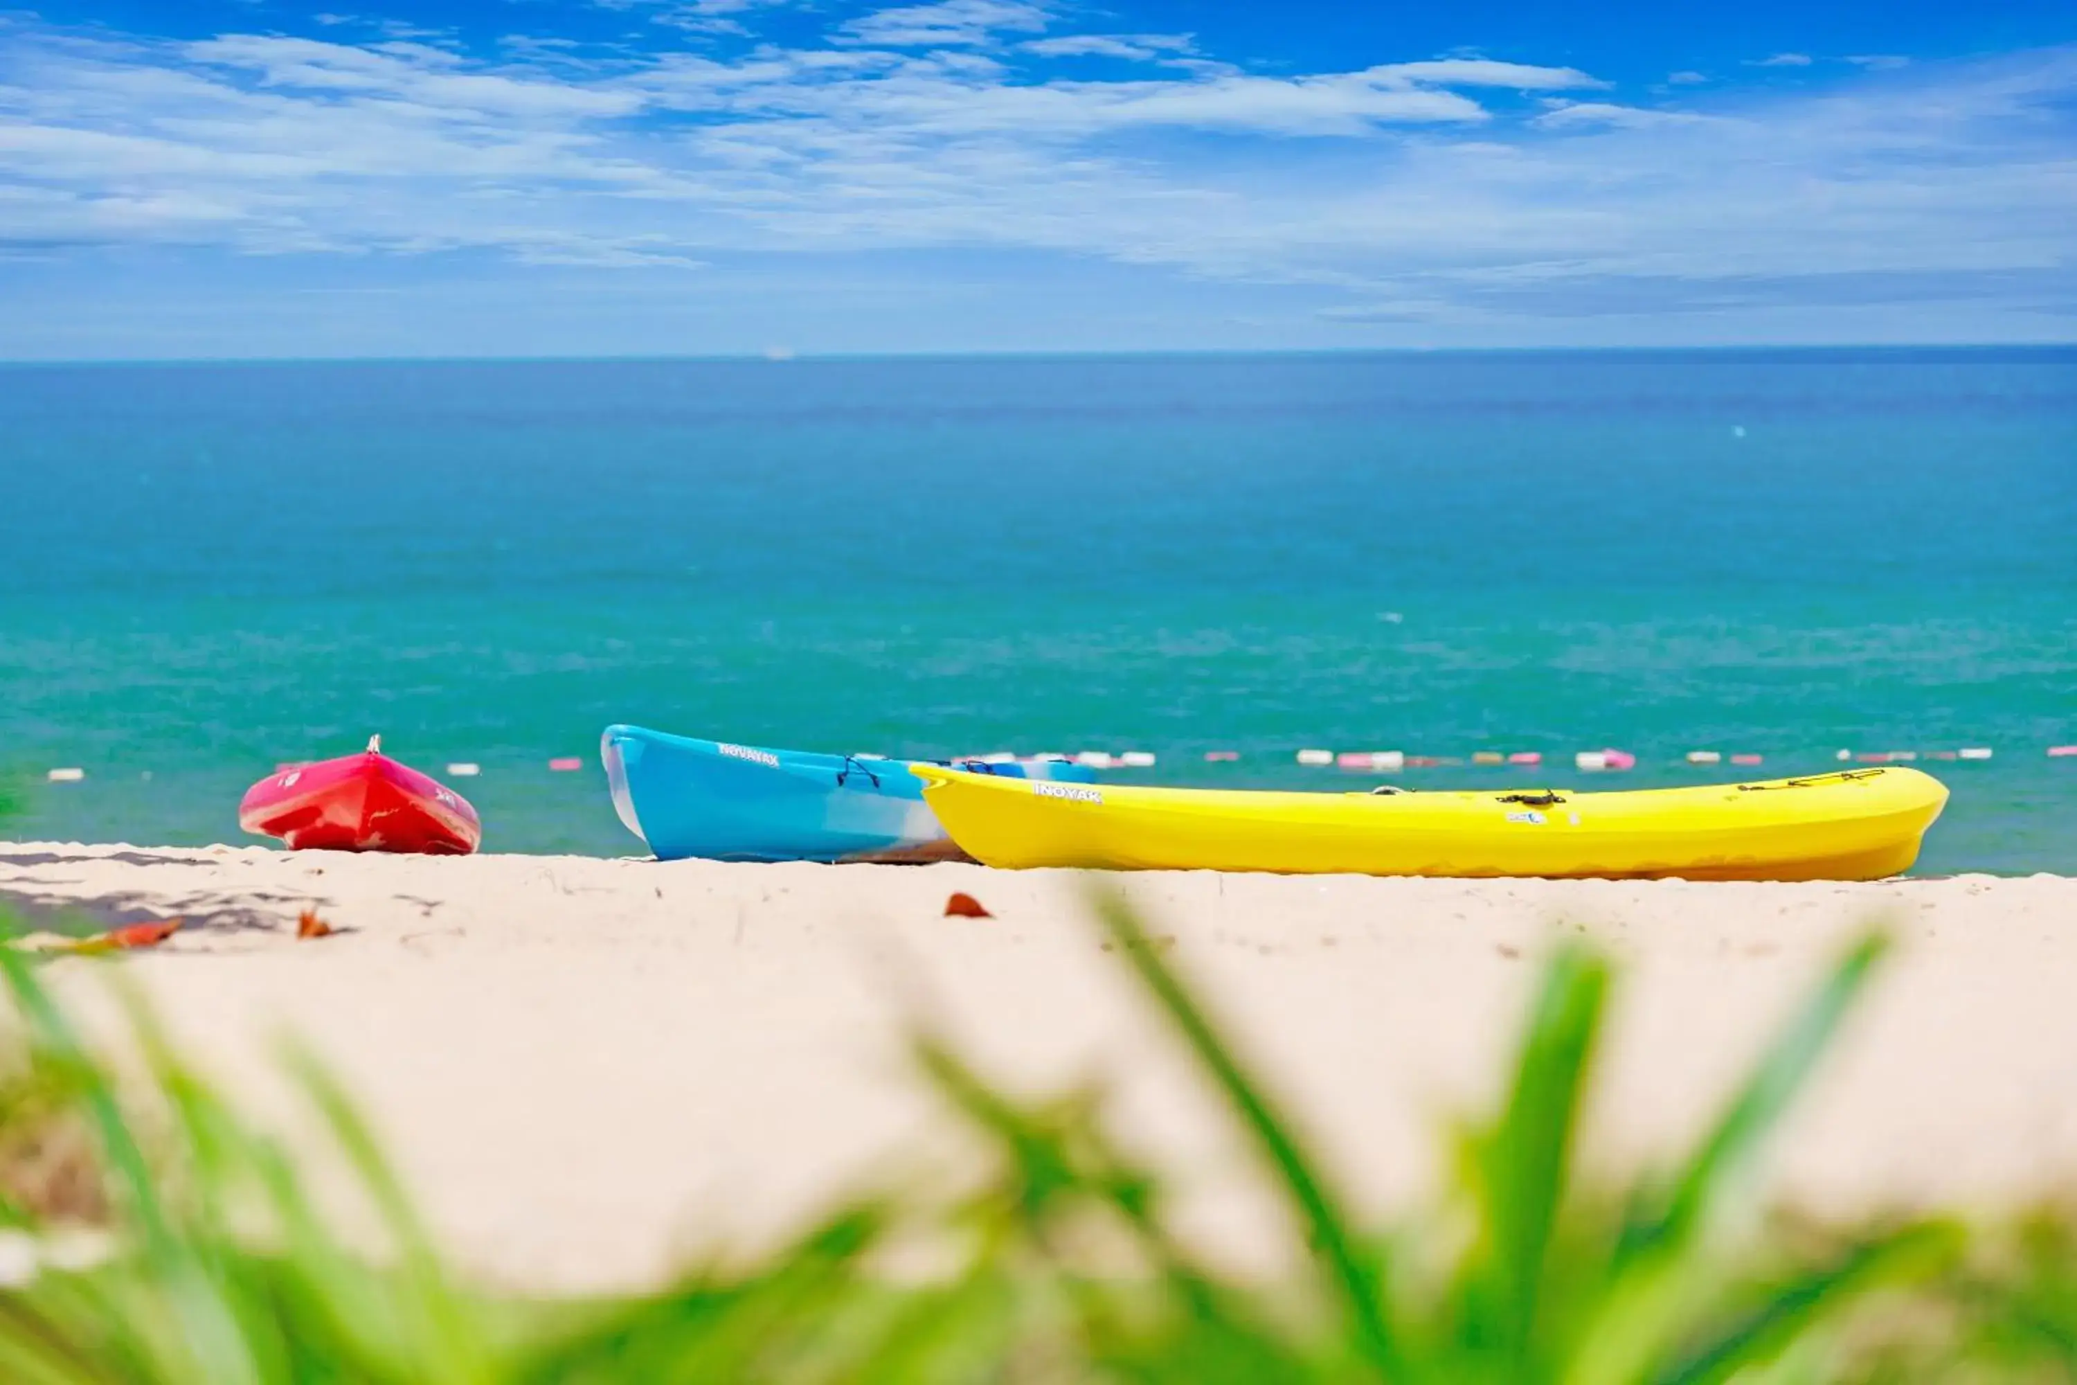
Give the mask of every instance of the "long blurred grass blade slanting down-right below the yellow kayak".
[[1147, 930], [1140, 928], [1124, 899], [1097, 895], [1097, 916], [1282, 1179], [1284, 1192], [1306, 1225], [1315, 1254], [1327, 1271], [1329, 1287], [1356, 1329], [1363, 1360], [1383, 1379], [1398, 1377], [1400, 1352], [1385, 1323], [1377, 1275], [1356, 1254], [1348, 1219], [1313, 1173], [1311, 1161], [1290, 1134], [1290, 1121], [1275, 1111], [1261, 1084], [1240, 1067], [1196, 999], [1155, 953]]

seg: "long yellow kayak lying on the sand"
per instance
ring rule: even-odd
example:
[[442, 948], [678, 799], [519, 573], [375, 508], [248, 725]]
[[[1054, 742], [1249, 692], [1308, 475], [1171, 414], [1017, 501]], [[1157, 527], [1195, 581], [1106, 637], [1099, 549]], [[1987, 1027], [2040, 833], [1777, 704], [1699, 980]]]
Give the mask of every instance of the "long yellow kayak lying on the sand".
[[1907, 768], [1630, 793], [1252, 793], [910, 770], [974, 860], [1105, 870], [1878, 880], [1911, 868], [1946, 806], [1938, 779]]

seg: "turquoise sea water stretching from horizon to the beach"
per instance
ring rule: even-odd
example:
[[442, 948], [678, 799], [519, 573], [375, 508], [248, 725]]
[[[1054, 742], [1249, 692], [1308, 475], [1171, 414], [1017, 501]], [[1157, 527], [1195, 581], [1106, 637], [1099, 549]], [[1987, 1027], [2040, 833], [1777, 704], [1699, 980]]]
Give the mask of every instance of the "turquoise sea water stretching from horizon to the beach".
[[15, 837], [239, 841], [380, 731], [486, 849], [623, 853], [636, 721], [1321, 789], [1988, 745], [1921, 868], [2077, 872], [2077, 351], [0, 368], [0, 476]]

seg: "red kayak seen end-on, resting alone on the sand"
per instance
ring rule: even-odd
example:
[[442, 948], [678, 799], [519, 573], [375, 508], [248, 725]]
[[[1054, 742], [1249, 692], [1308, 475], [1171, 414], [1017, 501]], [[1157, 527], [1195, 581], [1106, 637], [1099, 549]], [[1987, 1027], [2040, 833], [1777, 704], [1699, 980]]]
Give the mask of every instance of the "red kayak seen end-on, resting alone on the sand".
[[291, 851], [467, 856], [484, 839], [469, 802], [384, 756], [380, 735], [363, 754], [268, 775], [245, 791], [239, 826]]

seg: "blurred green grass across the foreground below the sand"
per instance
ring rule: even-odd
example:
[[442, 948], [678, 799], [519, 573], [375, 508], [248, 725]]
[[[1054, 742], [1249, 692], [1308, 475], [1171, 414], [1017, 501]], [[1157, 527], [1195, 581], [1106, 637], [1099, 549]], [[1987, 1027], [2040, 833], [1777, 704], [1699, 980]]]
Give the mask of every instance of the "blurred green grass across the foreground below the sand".
[[[991, 1150], [976, 1186], [862, 1196], [768, 1258], [696, 1267], [652, 1296], [513, 1302], [442, 1262], [307, 1057], [289, 1061], [380, 1223], [374, 1254], [147, 1007], [129, 1003], [141, 1065], [118, 1084], [42, 963], [0, 947], [19, 1013], [0, 1084], [0, 1381], [2077, 1379], [2071, 1217], [1761, 1215], [1763, 1146], [1880, 970], [1880, 936], [1838, 959], [1693, 1150], [1622, 1186], [1574, 1167], [1610, 963], [1560, 947], [1495, 1111], [1450, 1134], [1446, 1196], [1371, 1227], [1138, 920], [1109, 901], [1097, 914], [1252, 1142], [1306, 1273], [1219, 1273], [1176, 1235], [1167, 1179], [1120, 1148], [1101, 1101], [1007, 1094], [920, 1036], [947, 1119]], [[916, 1246], [933, 1273], [889, 1273]]]

